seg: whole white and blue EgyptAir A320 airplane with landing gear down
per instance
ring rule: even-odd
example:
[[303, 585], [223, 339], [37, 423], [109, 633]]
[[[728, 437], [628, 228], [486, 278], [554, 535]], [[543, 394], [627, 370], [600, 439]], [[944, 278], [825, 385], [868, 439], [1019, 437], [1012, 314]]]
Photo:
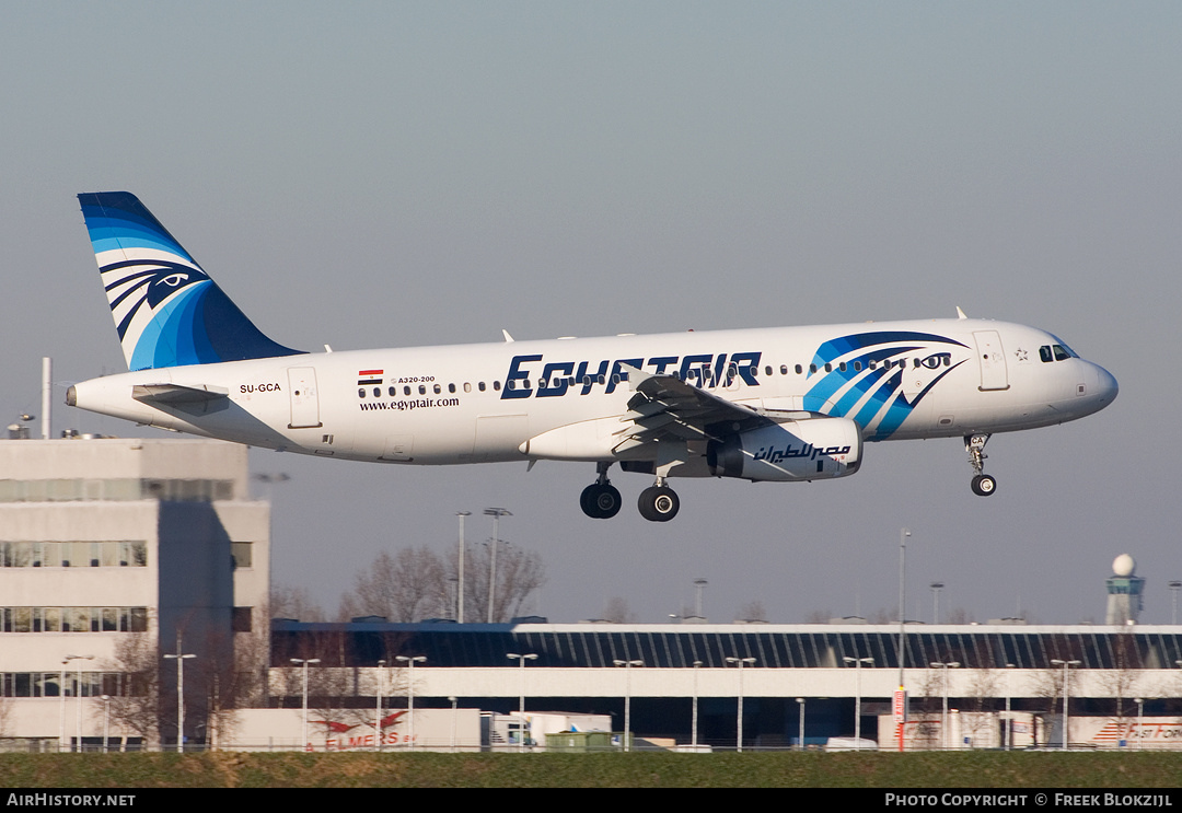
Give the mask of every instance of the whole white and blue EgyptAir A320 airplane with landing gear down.
[[66, 403], [282, 451], [390, 464], [539, 460], [596, 467], [583, 513], [615, 516], [608, 477], [671, 520], [674, 477], [752, 482], [855, 474], [866, 443], [961, 437], [989, 496], [995, 432], [1104, 409], [1117, 382], [1043, 330], [956, 318], [561, 337], [310, 353], [254, 326], [125, 191], [78, 196], [129, 372]]

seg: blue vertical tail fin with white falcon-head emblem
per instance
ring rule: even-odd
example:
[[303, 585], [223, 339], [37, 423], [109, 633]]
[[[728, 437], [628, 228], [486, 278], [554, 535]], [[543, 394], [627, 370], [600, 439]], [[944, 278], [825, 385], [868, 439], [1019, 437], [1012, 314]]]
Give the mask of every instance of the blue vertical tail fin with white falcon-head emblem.
[[129, 370], [303, 352], [264, 336], [135, 195], [78, 201]]

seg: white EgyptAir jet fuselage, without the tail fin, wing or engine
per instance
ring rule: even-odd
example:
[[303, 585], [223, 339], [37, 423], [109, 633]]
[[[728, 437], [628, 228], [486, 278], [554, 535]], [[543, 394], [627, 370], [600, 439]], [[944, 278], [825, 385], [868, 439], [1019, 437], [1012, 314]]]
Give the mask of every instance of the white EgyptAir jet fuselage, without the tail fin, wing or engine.
[[[635, 460], [655, 451], [619, 448], [628, 368], [738, 404], [849, 417], [868, 441], [907, 440], [1032, 429], [1106, 406], [1116, 379], [1073, 353], [1048, 358], [1045, 349], [1060, 345], [1041, 330], [975, 319], [505, 342], [143, 370], [76, 384], [70, 403], [348, 460]], [[158, 384], [225, 397], [132, 397], [136, 385]]]

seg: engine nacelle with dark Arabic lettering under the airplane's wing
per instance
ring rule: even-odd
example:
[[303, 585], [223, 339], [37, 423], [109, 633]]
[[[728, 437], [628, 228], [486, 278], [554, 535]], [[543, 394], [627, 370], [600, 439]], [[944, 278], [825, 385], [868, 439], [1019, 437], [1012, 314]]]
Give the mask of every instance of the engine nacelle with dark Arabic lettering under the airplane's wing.
[[862, 464], [862, 430], [850, 418], [791, 421], [710, 441], [716, 477], [751, 481], [830, 480]]

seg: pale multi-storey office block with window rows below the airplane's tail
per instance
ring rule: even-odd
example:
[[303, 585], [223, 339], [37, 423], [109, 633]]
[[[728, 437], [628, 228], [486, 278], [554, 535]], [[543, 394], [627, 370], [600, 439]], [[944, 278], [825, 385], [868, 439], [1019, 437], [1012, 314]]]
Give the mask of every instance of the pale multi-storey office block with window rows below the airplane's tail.
[[[246, 449], [215, 441], [0, 441], [0, 746], [175, 742], [178, 642], [186, 739], [214, 733], [199, 692], [235, 638], [266, 652], [269, 507], [247, 484]], [[161, 722], [137, 730], [137, 705]]]

